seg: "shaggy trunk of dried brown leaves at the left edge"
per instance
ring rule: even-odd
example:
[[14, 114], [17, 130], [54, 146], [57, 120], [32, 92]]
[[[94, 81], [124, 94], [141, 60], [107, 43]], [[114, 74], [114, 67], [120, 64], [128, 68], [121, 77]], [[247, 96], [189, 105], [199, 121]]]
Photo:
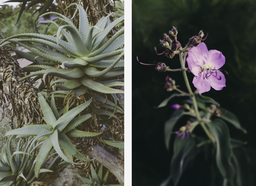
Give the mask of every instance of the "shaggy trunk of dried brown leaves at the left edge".
[[24, 124], [36, 123], [40, 117], [38, 89], [31, 79], [18, 81], [26, 76], [17, 60], [6, 47], [0, 48], [0, 108], [2, 119], [8, 118], [13, 125], [17, 117], [17, 128]]

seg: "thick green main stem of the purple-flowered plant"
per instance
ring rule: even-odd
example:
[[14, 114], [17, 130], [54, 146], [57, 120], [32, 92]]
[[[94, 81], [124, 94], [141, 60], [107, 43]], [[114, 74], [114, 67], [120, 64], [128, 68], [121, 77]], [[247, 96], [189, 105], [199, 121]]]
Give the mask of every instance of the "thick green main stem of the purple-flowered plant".
[[191, 90], [191, 87], [190, 87], [190, 84], [189, 84], [189, 81], [188, 81], [188, 78], [187, 78], [187, 73], [185, 71], [186, 68], [185, 68], [185, 64], [184, 64], [184, 61], [183, 61], [182, 52], [179, 53], [179, 56], [180, 56], [181, 68], [183, 69], [182, 70], [182, 74], [183, 74], [183, 77], [184, 77], [185, 84], [186, 84], [186, 87], [188, 89], [188, 92], [190, 94], [190, 97], [192, 98], [192, 101], [193, 101], [193, 106], [194, 106], [195, 111], [196, 111], [197, 120], [199, 121], [200, 125], [202, 126], [203, 130], [205, 131], [207, 136], [210, 138], [210, 140], [212, 142], [214, 142], [215, 141], [214, 136], [208, 130], [208, 128], [205, 126], [204, 122], [202, 121], [202, 118], [200, 117], [198, 106], [197, 106], [197, 102], [196, 102], [196, 96], [195, 96], [195, 94]]

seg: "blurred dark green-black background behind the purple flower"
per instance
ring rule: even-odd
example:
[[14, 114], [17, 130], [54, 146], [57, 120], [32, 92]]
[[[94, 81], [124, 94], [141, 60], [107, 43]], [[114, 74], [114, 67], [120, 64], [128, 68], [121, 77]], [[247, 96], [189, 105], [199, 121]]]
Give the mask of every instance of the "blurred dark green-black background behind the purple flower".
[[[165, 77], [176, 80], [185, 89], [181, 73], [158, 73], [154, 66], [143, 63], [165, 62], [171, 68], [180, 67], [179, 58], [157, 56], [163, 48], [159, 39], [175, 26], [178, 41], [184, 47], [200, 30], [209, 33], [204, 41], [208, 50], [216, 49], [226, 57], [222, 67], [228, 72], [222, 91], [211, 89], [205, 96], [214, 98], [232, 111], [247, 129], [244, 135], [230, 126], [232, 138], [247, 141], [244, 185], [256, 185], [256, 1], [255, 0], [132, 0], [132, 185], [157, 186], [169, 175], [172, 149], [167, 151], [163, 126], [173, 112], [172, 99], [156, 109], [171, 93], [163, 88]], [[192, 81], [193, 75], [188, 75]], [[193, 87], [193, 84], [191, 84]], [[193, 90], [195, 88], [193, 87]], [[210, 185], [212, 176], [207, 162], [200, 156], [184, 173], [179, 185]], [[187, 181], [186, 181], [187, 180]]]

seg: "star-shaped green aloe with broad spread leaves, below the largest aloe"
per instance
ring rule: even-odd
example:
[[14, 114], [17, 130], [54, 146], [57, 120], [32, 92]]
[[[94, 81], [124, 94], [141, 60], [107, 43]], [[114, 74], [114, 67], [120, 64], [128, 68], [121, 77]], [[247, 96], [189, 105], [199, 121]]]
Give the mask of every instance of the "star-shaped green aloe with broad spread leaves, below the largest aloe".
[[91, 117], [91, 114], [76, 117], [77, 114], [81, 113], [90, 105], [91, 99], [69, 111], [67, 111], [67, 104], [65, 109], [66, 111], [64, 111], [62, 115], [56, 109], [53, 94], [51, 106], [47, 104], [44, 96], [41, 93], [38, 93], [38, 99], [46, 125], [26, 125], [22, 128], [8, 131], [5, 134], [5, 136], [18, 135], [18, 137], [35, 136], [33, 141], [43, 138], [43, 144], [37, 155], [37, 161], [35, 163], [35, 175], [38, 176], [42, 163], [52, 148], [55, 149], [63, 160], [71, 164], [75, 164], [75, 162], [72, 160], [73, 156], [82, 161], [89, 161], [89, 159], [85, 158], [77, 151], [75, 146], [69, 140], [69, 137], [90, 137], [97, 136], [102, 133], [91, 133], [75, 129], [76, 126], [80, 125], [82, 122]]

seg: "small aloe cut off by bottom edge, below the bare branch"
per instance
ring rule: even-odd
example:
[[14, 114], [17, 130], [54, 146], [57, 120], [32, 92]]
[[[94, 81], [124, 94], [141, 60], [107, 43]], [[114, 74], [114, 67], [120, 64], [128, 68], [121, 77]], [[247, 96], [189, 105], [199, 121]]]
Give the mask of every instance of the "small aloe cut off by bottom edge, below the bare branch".
[[91, 175], [88, 174], [89, 179], [77, 174], [77, 177], [79, 177], [84, 183], [81, 186], [123, 186], [120, 184], [106, 184], [109, 176], [109, 171], [106, 171], [105, 175], [103, 175], [102, 165], [100, 166], [98, 173], [96, 173], [95, 169], [91, 164], [90, 164], [90, 170], [91, 170]]

